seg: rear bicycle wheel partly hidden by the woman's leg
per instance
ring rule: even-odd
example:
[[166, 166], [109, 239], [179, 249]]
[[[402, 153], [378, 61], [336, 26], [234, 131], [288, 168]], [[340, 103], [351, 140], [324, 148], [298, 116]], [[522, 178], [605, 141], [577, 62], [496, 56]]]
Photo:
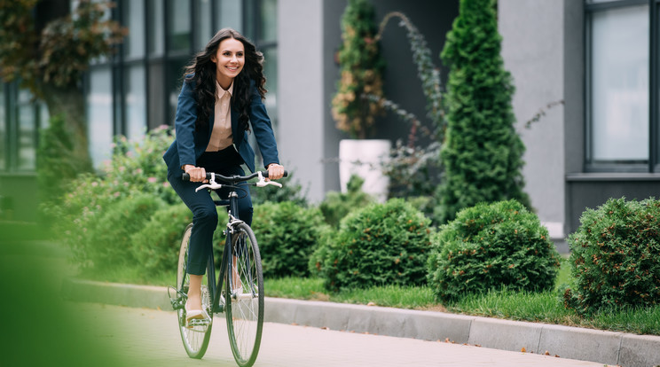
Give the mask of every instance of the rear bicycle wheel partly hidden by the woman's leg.
[[[179, 248], [178, 266], [177, 266], [177, 290], [180, 293], [188, 293], [188, 286], [190, 285], [190, 277], [186, 271], [188, 264], [188, 246], [190, 245], [190, 236], [193, 232], [193, 223], [188, 224], [184, 231], [184, 237], [181, 239], [181, 247]], [[207, 269], [207, 277], [202, 280], [201, 285], [201, 305], [207, 310], [208, 315], [210, 312], [210, 296], [208, 293], [208, 277], [210, 271]], [[181, 334], [181, 341], [184, 343], [185, 353], [194, 359], [200, 359], [206, 354], [208, 348], [208, 341], [211, 338], [211, 328], [213, 326], [213, 316], [210, 320], [200, 322], [196, 325], [188, 325], [185, 321], [185, 308], [177, 310], [177, 322], [179, 333]]]

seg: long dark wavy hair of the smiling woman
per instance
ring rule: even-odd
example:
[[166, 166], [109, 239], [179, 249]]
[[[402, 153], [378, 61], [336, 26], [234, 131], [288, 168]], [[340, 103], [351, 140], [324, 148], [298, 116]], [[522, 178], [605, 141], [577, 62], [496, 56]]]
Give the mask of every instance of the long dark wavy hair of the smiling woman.
[[248, 38], [241, 35], [232, 28], [220, 29], [216, 35], [208, 41], [203, 51], [193, 58], [193, 63], [185, 66], [184, 82], [194, 82], [193, 95], [197, 100], [197, 121], [195, 129], [200, 130], [208, 127], [208, 119], [214, 113], [216, 105], [216, 63], [211, 61], [211, 56], [216, 55], [220, 43], [227, 38], [233, 38], [243, 43], [245, 48], [245, 65], [233, 81], [232, 106], [239, 111], [239, 127], [248, 130], [249, 107], [250, 107], [250, 81], [255, 82], [256, 90], [265, 98], [266, 91], [263, 84], [266, 78], [263, 76], [263, 53], [256, 51], [255, 45]]

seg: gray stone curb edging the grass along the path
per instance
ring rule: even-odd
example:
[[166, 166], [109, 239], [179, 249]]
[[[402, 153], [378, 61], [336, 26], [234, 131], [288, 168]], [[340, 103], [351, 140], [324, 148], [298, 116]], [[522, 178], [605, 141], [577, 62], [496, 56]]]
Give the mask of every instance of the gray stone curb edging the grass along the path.
[[[166, 287], [66, 279], [63, 294], [86, 301], [134, 308], [171, 308]], [[448, 340], [510, 351], [548, 353], [562, 358], [620, 365], [660, 366], [660, 337], [604, 332], [435, 311], [382, 308], [323, 301], [266, 297], [264, 319], [346, 332], [419, 340]]]

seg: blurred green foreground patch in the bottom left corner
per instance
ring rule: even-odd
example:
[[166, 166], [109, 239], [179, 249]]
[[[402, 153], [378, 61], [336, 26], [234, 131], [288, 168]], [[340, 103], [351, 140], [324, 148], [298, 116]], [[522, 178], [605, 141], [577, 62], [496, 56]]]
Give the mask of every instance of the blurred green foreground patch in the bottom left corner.
[[130, 364], [104, 334], [112, 320], [77, 316], [81, 305], [63, 299], [62, 279], [75, 269], [65, 250], [43, 238], [34, 224], [0, 222], [0, 365]]

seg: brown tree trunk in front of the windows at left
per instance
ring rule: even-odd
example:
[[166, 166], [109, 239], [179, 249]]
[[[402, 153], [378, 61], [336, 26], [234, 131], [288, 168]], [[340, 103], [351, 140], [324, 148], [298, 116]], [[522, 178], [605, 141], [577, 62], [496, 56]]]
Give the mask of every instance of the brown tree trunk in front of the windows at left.
[[43, 100], [51, 116], [59, 115], [64, 119], [65, 129], [72, 143], [70, 158], [75, 162], [78, 173], [91, 172], [93, 165], [87, 138], [83, 92], [75, 86], [43, 85]]

